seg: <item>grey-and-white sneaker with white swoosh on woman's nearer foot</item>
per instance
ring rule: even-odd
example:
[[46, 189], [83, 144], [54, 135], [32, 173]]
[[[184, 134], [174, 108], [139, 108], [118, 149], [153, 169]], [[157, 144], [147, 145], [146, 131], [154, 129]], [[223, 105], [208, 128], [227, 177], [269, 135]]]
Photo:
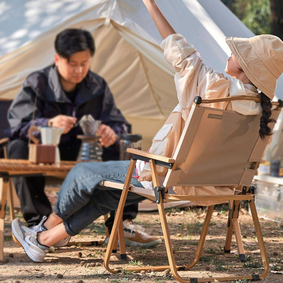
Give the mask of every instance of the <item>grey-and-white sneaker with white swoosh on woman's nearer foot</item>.
[[49, 247], [38, 243], [37, 233], [34, 230], [24, 226], [19, 219], [14, 219], [12, 221], [12, 232], [31, 260], [35, 262], [44, 261]]

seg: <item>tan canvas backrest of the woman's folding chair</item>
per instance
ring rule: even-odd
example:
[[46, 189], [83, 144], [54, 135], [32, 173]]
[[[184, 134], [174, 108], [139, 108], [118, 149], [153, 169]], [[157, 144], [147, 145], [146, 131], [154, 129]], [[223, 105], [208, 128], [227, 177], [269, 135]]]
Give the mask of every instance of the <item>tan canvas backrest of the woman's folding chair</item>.
[[260, 117], [194, 104], [173, 156], [178, 165], [163, 185], [250, 186], [268, 142], [259, 136]]

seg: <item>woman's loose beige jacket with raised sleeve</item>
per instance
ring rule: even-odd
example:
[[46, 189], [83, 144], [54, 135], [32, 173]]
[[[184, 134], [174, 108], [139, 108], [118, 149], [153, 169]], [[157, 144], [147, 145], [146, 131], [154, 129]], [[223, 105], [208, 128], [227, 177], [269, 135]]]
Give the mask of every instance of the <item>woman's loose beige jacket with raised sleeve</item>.
[[[212, 99], [239, 95], [259, 96], [259, 94], [253, 85], [225, 77], [224, 74], [205, 66], [194, 46], [186, 42], [180, 34], [173, 34], [165, 38], [161, 43], [161, 48], [164, 49], [166, 61], [176, 70], [175, 85], [179, 103], [153, 138], [149, 152], [173, 157], [196, 95], [204, 99]], [[206, 106], [233, 110], [243, 115], [255, 115], [262, 112], [260, 104], [254, 101], [218, 102]], [[165, 176], [167, 168], [157, 166], [157, 171], [159, 176]], [[138, 180], [152, 181], [149, 164], [145, 164]], [[173, 190], [176, 194], [183, 195], [234, 193], [231, 188], [213, 186], [173, 187]], [[206, 205], [204, 202], [199, 204]]]

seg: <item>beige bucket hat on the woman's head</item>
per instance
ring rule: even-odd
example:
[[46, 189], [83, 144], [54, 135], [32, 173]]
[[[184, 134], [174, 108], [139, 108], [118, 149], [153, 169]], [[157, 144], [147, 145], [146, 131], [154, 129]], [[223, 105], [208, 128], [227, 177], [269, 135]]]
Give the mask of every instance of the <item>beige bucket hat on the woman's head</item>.
[[226, 42], [248, 79], [270, 99], [283, 72], [283, 41], [275, 35], [228, 37]]

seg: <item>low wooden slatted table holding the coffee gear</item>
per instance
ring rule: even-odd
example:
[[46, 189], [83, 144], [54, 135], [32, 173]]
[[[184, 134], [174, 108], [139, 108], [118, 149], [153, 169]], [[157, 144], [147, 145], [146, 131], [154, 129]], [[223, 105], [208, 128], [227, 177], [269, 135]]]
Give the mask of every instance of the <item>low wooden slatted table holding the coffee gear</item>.
[[77, 164], [76, 161], [61, 161], [60, 164], [32, 164], [29, 160], [0, 159], [0, 262], [3, 262], [4, 219], [6, 213], [7, 193], [10, 195], [10, 213], [14, 219], [14, 202], [12, 198], [11, 177], [52, 176], [65, 178]]

